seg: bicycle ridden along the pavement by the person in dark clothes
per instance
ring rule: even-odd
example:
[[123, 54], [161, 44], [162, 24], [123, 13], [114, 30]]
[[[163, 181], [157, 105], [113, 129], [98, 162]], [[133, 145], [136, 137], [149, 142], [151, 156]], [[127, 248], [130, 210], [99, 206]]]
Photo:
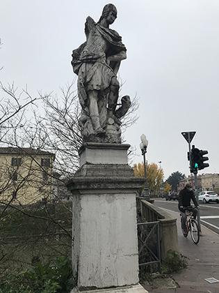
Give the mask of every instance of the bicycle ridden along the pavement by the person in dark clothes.
[[[186, 213], [186, 232], [182, 229], [182, 232], [185, 237], [188, 236], [188, 232], [190, 232], [191, 239], [195, 244], [200, 241], [200, 230], [197, 226], [197, 221], [193, 217], [193, 206], [187, 206], [184, 210]], [[181, 216], [181, 214], [180, 214]], [[182, 219], [182, 218], [181, 218]]]

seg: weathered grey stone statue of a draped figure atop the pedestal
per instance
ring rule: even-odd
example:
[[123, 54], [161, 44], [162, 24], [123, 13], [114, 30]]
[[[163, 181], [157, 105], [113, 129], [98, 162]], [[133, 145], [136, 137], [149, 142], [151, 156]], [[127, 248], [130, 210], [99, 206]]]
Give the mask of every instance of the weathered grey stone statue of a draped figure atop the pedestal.
[[97, 23], [88, 16], [86, 42], [72, 53], [82, 108], [79, 125], [85, 142], [121, 143], [120, 118], [131, 105], [129, 96], [124, 96], [117, 108], [120, 84], [116, 75], [127, 50], [119, 34], [109, 29], [116, 17], [113, 4], [104, 6]]

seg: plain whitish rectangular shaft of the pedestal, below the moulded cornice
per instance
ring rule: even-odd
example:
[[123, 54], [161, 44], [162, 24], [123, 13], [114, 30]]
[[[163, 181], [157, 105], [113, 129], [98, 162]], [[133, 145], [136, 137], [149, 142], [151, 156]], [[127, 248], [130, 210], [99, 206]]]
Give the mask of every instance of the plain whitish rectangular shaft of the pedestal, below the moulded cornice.
[[[73, 197], [73, 262], [78, 287], [112, 287], [138, 283], [136, 196], [89, 193]], [[79, 217], [79, 218], [78, 218]], [[79, 220], [79, 222], [78, 222]], [[75, 251], [74, 251], [75, 250]]]

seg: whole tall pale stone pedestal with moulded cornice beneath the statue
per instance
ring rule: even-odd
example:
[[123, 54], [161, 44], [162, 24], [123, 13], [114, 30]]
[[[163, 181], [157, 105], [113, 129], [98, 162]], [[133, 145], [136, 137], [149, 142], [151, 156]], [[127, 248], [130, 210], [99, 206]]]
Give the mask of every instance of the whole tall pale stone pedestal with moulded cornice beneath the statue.
[[72, 292], [145, 292], [138, 285], [136, 230], [136, 191], [144, 179], [133, 177], [127, 149], [128, 144], [86, 143], [79, 151], [81, 166], [68, 183], [73, 195]]

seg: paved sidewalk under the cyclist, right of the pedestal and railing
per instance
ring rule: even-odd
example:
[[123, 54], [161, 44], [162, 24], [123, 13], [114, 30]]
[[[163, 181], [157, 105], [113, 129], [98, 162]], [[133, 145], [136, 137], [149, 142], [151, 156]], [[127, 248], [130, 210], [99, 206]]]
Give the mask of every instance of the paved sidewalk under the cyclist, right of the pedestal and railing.
[[177, 218], [179, 253], [188, 257], [188, 268], [181, 273], [175, 273], [172, 278], [179, 285], [175, 289], [145, 287], [149, 293], [219, 293], [219, 283], [208, 283], [206, 278], [219, 280], [219, 234], [202, 225], [200, 242], [195, 245], [181, 234], [179, 213], [168, 211]]

